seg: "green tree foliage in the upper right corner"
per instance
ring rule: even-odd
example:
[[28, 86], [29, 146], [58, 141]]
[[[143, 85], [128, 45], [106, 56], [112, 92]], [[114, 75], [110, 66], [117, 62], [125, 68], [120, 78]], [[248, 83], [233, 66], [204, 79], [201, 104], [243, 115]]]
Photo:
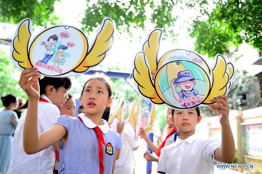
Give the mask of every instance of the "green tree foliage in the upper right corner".
[[242, 41], [262, 50], [262, 3], [261, 0], [228, 0], [219, 2], [208, 20], [194, 20], [189, 29], [196, 38], [195, 51], [214, 57], [223, 54], [232, 44]]

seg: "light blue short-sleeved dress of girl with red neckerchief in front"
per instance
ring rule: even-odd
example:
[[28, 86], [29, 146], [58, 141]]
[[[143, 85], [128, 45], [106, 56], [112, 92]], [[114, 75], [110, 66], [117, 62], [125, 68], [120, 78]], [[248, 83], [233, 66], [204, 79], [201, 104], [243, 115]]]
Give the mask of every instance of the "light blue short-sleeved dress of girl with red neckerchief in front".
[[[68, 132], [66, 145], [64, 146], [63, 141], [59, 144], [58, 173], [100, 173], [99, 143], [95, 131], [88, 128], [78, 117], [63, 115], [58, 118], [57, 123]], [[105, 144], [112, 145], [111, 151], [102, 145], [104, 173], [111, 174], [115, 151], [123, 146], [123, 141], [121, 135], [110, 128], [103, 137]]]

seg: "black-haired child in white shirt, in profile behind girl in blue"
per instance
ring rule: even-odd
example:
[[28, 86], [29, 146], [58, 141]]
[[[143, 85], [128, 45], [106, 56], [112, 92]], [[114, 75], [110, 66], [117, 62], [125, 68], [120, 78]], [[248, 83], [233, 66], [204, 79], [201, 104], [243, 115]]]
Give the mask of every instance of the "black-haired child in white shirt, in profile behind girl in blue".
[[[34, 70], [36, 68], [31, 68], [32, 72]], [[63, 106], [68, 99], [67, 91], [71, 88], [71, 79], [69, 77], [44, 77], [39, 80], [39, 85], [41, 98], [39, 106], [34, 110], [38, 110], [38, 133], [43, 133], [57, 122], [60, 116], [58, 107]], [[53, 173], [55, 164], [55, 147], [53, 145], [56, 144], [58, 150], [58, 143], [54, 142], [52, 146], [36, 154], [28, 155], [24, 152], [23, 130], [27, 112], [28, 109], [20, 117], [15, 130], [13, 153], [7, 173]]]

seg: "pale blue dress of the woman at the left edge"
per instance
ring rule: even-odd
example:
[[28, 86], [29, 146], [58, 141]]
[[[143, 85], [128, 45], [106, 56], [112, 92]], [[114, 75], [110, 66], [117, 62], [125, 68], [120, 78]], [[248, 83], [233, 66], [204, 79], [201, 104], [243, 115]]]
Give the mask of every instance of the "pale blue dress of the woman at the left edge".
[[0, 112], [0, 173], [7, 173], [12, 156], [12, 135], [15, 133], [17, 122], [18, 117], [14, 111]]

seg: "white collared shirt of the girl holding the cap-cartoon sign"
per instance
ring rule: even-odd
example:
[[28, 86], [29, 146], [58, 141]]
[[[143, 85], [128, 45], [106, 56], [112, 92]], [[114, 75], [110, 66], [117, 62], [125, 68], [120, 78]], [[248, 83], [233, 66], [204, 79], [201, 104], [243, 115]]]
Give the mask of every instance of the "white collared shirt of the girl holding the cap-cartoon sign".
[[214, 173], [214, 164], [225, 164], [214, 159], [221, 142], [214, 138], [200, 139], [194, 133], [185, 140], [180, 136], [163, 147], [158, 161], [158, 173]]

